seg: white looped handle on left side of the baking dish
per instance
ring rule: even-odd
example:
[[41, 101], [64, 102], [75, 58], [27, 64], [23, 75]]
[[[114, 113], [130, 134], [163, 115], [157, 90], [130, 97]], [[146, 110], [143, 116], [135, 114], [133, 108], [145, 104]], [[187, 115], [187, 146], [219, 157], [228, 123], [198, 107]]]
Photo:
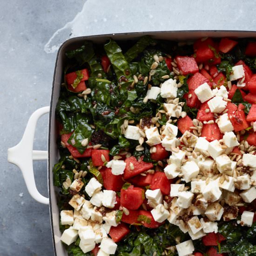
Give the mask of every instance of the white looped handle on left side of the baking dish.
[[33, 150], [34, 133], [38, 119], [50, 112], [50, 107], [37, 109], [29, 118], [21, 141], [13, 148], [8, 148], [7, 160], [17, 165], [24, 177], [29, 194], [38, 202], [49, 204], [49, 198], [41, 195], [34, 180], [33, 160], [47, 160], [48, 152]]

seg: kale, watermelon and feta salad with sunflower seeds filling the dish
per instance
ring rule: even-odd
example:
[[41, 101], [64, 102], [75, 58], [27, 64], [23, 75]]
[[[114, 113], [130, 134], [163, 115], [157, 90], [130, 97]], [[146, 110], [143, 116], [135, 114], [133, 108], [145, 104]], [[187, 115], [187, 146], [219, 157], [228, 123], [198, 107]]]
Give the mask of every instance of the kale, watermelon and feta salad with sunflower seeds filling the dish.
[[256, 255], [256, 41], [90, 41], [56, 107], [69, 256]]

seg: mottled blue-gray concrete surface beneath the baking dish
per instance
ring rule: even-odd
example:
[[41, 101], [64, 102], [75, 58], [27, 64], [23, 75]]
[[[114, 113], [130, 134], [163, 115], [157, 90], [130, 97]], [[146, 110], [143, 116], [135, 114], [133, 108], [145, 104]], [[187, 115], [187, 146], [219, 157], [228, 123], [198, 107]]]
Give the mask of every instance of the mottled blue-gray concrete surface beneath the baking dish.
[[[48, 206], [28, 194], [20, 170], [7, 163], [7, 148], [20, 141], [32, 112], [49, 105], [55, 46], [70, 34], [255, 30], [255, 7], [254, 0], [0, 1], [0, 256], [53, 255]], [[47, 116], [38, 124], [34, 149], [46, 145]], [[34, 170], [47, 196], [46, 162], [34, 163]]]

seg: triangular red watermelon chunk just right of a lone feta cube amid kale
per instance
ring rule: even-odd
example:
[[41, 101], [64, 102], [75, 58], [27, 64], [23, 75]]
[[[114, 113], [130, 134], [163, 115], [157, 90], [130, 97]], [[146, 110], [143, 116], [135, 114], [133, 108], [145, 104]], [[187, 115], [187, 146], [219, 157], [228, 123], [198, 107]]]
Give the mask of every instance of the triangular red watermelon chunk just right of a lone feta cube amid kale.
[[[125, 159], [126, 167], [124, 170], [124, 178], [129, 179], [134, 177], [142, 172], [145, 172], [151, 168], [153, 168], [153, 164], [151, 162], [143, 162], [143, 157], [137, 161], [134, 156], [128, 157]], [[133, 164], [133, 169], [131, 169], [130, 163]]]

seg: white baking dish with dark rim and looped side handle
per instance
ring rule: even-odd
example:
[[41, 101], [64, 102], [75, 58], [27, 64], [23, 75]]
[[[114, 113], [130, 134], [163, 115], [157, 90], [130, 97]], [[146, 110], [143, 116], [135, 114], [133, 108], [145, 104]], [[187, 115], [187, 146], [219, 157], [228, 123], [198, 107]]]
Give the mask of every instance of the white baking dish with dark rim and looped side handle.
[[[19, 144], [8, 149], [8, 162], [17, 165], [22, 171], [27, 189], [30, 195], [38, 202], [49, 204], [52, 235], [54, 244], [54, 254], [56, 256], [65, 256], [67, 252], [60, 241], [61, 232], [59, 229], [59, 209], [57, 206], [58, 189], [54, 188], [52, 169], [58, 161], [59, 153], [56, 145], [57, 134], [55, 124], [55, 108], [60, 94], [62, 81], [62, 71], [67, 62], [65, 52], [69, 49], [81, 46], [84, 40], [91, 40], [96, 44], [104, 43], [110, 37], [114, 40], [137, 40], [143, 35], [150, 35], [156, 39], [185, 41], [195, 40], [203, 37], [233, 37], [233, 38], [256, 38], [256, 32], [253, 31], [158, 31], [158, 32], [139, 32], [127, 34], [107, 34], [72, 38], [64, 42], [57, 54], [54, 79], [52, 87], [52, 96], [49, 107], [37, 109], [29, 118], [26, 130]], [[36, 123], [40, 116], [49, 113], [48, 130], [48, 151], [33, 150], [34, 132]], [[33, 161], [48, 161], [48, 193], [49, 198], [40, 195], [34, 181]]]

